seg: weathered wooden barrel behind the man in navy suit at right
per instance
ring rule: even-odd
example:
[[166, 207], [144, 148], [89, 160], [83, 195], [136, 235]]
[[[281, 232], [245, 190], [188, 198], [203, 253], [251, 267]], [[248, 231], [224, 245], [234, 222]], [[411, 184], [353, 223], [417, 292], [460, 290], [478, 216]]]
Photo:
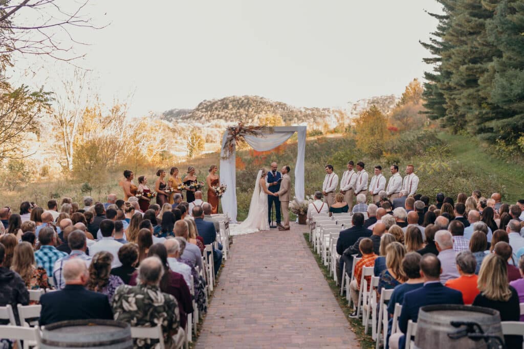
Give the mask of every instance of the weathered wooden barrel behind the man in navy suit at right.
[[[416, 348], [498, 348], [495, 340], [486, 343], [467, 337], [453, 339], [448, 334], [467, 329], [466, 325], [453, 327], [451, 322], [475, 322], [485, 334], [503, 338], [500, 314], [497, 310], [459, 305], [435, 305], [421, 307], [415, 336]], [[464, 333], [463, 332], [463, 333]]]

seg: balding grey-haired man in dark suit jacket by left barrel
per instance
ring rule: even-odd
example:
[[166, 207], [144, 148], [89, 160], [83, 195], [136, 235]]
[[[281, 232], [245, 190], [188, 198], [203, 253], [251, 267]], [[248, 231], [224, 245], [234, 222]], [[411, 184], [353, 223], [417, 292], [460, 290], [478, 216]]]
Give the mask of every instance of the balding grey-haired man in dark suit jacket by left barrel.
[[113, 311], [106, 295], [85, 289], [89, 280], [88, 268], [80, 258], [64, 263], [63, 290], [49, 292], [40, 297], [40, 325], [65, 320], [113, 320]]

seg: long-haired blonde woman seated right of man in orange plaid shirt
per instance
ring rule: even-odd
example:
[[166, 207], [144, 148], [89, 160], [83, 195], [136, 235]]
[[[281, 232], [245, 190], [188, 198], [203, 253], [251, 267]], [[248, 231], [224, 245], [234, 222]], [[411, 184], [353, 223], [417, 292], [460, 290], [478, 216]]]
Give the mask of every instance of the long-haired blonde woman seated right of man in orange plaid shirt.
[[402, 269], [402, 259], [406, 255], [406, 247], [400, 242], [391, 242], [386, 247], [386, 266], [387, 269], [380, 273], [378, 280], [378, 294], [382, 289], [391, 289], [405, 283], [408, 279]]

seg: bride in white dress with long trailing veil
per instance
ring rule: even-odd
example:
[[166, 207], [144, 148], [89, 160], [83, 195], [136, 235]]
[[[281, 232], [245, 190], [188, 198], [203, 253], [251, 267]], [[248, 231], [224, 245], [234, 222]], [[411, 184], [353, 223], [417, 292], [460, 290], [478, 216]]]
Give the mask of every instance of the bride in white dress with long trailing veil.
[[266, 183], [266, 176], [267, 170], [265, 168], [258, 171], [247, 218], [242, 223], [230, 227], [231, 235], [249, 234], [256, 231], [269, 230], [269, 222], [267, 221], [267, 196], [276, 195], [267, 189], [269, 183]]

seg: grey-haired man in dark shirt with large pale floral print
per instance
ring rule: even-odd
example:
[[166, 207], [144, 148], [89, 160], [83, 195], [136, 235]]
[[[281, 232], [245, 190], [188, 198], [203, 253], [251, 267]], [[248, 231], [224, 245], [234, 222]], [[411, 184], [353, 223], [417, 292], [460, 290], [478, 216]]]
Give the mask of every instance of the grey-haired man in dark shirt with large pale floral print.
[[[146, 258], [138, 268], [138, 286], [126, 285], [116, 290], [112, 302], [114, 318], [138, 327], [161, 324], [166, 348], [180, 347], [185, 333], [180, 327], [179, 307], [173, 296], [160, 290], [163, 274], [162, 262], [158, 257]], [[136, 307], [130, 310], [129, 304], [136, 304]], [[133, 340], [134, 347], [138, 346], [137, 341], [140, 340]], [[141, 348], [152, 349], [158, 342], [151, 340], [140, 344], [143, 344]]]

